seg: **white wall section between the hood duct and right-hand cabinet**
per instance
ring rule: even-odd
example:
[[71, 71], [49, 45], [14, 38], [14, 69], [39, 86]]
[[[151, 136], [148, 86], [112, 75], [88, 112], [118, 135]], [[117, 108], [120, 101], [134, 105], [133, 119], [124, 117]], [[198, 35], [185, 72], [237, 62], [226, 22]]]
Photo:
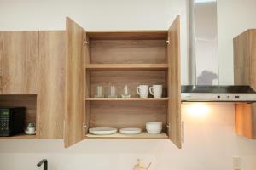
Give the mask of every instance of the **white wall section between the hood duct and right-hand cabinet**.
[[218, 65], [220, 84], [234, 84], [233, 38], [256, 28], [255, 0], [218, 0]]

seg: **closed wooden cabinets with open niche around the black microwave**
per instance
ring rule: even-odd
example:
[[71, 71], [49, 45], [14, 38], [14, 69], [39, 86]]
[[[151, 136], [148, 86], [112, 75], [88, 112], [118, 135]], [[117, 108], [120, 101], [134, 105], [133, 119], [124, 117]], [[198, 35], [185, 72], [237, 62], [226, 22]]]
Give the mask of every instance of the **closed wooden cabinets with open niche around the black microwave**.
[[25, 106], [37, 125], [8, 138], [62, 139], [66, 31], [0, 31], [0, 59], [0, 106]]

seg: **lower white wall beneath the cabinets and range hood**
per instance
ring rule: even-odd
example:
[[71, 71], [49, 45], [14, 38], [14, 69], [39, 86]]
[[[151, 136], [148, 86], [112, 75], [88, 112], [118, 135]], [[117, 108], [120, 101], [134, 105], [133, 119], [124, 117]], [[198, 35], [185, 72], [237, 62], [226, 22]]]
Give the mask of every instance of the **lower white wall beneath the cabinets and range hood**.
[[[0, 169], [33, 170], [49, 159], [50, 169], [131, 170], [137, 158], [152, 161], [152, 170], [229, 170], [232, 156], [241, 156], [242, 170], [255, 170], [256, 141], [234, 133], [234, 107], [207, 105], [205, 114], [193, 114], [183, 105], [185, 143], [178, 150], [167, 139], [88, 139], [63, 149], [62, 140], [5, 139], [0, 141]], [[196, 113], [200, 113], [196, 107]]]

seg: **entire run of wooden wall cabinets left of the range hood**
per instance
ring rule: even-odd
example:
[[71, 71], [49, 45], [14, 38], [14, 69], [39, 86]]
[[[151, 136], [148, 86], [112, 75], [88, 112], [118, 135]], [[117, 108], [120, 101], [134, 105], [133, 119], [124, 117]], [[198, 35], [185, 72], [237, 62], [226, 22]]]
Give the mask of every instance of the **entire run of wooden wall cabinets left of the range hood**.
[[[170, 139], [181, 148], [179, 22], [167, 31], [84, 31], [67, 18], [66, 31], [0, 31], [0, 105], [24, 105], [26, 122], [37, 122], [37, 136], [10, 138], [64, 138], [66, 147], [83, 139]], [[162, 84], [163, 98], [138, 98], [140, 84]], [[97, 85], [106, 93], [114, 85], [119, 95], [128, 85], [131, 98], [95, 98]], [[146, 122], [163, 122], [163, 133], [145, 133]], [[96, 136], [90, 127], [144, 132]]]

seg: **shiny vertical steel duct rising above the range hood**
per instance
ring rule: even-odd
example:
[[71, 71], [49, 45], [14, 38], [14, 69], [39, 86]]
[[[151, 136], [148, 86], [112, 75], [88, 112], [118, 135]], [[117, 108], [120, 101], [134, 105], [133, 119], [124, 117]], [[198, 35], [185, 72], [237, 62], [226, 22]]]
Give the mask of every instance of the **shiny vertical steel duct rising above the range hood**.
[[217, 1], [189, 0], [190, 82], [218, 85]]

